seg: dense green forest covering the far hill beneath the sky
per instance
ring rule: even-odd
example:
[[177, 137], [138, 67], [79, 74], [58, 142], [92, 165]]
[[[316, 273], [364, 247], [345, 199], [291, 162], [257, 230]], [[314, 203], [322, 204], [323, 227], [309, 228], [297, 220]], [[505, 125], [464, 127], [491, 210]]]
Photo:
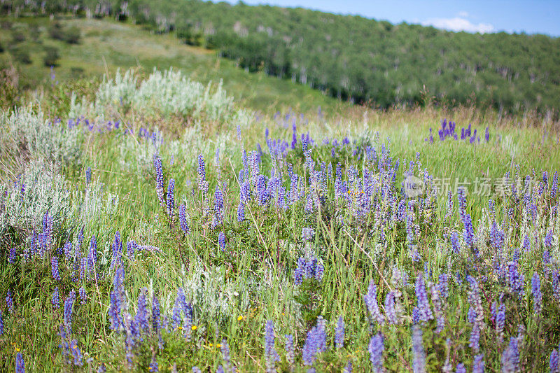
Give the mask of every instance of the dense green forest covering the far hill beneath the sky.
[[468, 34], [303, 8], [199, 0], [3, 0], [15, 16], [116, 17], [216, 49], [249, 71], [360, 104], [560, 108], [560, 38]]

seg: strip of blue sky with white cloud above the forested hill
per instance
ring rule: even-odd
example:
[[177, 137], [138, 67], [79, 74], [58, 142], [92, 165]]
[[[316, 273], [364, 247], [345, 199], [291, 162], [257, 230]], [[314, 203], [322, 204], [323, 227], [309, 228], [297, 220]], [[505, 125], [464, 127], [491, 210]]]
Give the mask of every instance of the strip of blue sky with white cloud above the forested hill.
[[[237, 0], [228, 2], [237, 3]], [[452, 31], [524, 31], [560, 36], [560, 0], [244, 0], [244, 3], [302, 6], [391, 23], [431, 24]]]

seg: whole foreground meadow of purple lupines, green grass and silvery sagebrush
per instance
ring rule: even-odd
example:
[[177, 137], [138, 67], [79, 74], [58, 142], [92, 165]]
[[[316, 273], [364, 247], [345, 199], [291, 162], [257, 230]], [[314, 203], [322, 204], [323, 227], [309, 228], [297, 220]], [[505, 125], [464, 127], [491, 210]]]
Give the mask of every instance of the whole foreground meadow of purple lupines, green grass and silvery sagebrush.
[[172, 70], [1, 113], [1, 370], [560, 372], [557, 124], [410, 118]]

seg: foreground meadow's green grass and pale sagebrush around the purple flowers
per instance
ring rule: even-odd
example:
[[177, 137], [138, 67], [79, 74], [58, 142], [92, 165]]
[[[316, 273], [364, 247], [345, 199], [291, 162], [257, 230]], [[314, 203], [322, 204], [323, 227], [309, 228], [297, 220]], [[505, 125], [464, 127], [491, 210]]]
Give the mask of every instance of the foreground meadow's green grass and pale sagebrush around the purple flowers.
[[[167, 72], [168, 76], [170, 73]], [[186, 94], [185, 87], [193, 87], [196, 80], [188, 84], [180, 78], [167, 79], [165, 73], [131, 74], [127, 78], [119, 74], [119, 78], [111, 76], [104, 80], [84, 79], [72, 85], [64, 82], [53, 85], [45, 92], [41, 108], [26, 100], [24, 109], [6, 112], [0, 117], [0, 178], [5, 181], [0, 186], [0, 275], [5, 279], [0, 283], [0, 296], [5, 298], [10, 290], [15, 302], [14, 312], [7, 310], [6, 302], [0, 302], [4, 323], [4, 334], [0, 336], [0, 370], [13, 370], [15, 353], [21, 351], [28, 370], [41, 367], [47, 371], [89, 372], [103, 363], [109, 372], [148, 371], [155, 360], [160, 372], [188, 371], [193, 365], [204, 372], [214, 372], [218, 365], [226, 363], [220, 346], [225, 340], [230, 346], [230, 363], [237, 370], [261, 372], [265, 367], [263, 325], [272, 320], [276, 337], [274, 349], [281, 359], [276, 362], [276, 368], [283, 372], [292, 368], [295, 372], [305, 372], [308, 367], [302, 366], [301, 358], [305, 335], [321, 315], [326, 323], [327, 340], [326, 351], [319, 353], [314, 363], [317, 370], [339, 372], [351, 360], [355, 371], [369, 371], [367, 344], [375, 332], [382, 332], [384, 368], [405, 371], [414, 360], [410, 349], [410, 315], [417, 305], [414, 280], [419, 274], [429, 276], [426, 278], [428, 302], [435, 309], [439, 299], [440, 312], [446, 320], [440, 333], [434, 331], [436, 321], [421, 325], [428, 371], [442, 370], [447, 351], [451, 351], [454, 363], [465, 363], [471, 370], [475, 351], [469, 346], [472, 323], [468, 321], [470, 296], [464, 279], [466, 273], [479, 279], [484, 311], [480, 345], [486, 370], [500, 370], [501, 354], [508, 339], [517, 336], [523, 337], [519, 339], [523, 341], [520, 370], [547, 369], [549, 353], [557, 348], [560, 340], [560, 304], [552, 291], [552, 274], [545, 276], [547, 265], [543, 265], [543, 248], [539, 246], [520, 253], [519, 268], [525, 274], [524, 295], [519, 297], [504, 285], [495, 265], [495, 260], [502, 259], [494, 256], [498, 253], [493, 252], [489, 244], [488, 197], [468, 195], [467, 211], [477, 227], [480, 258], [472, 256], [465, 247], [458, 254], [450, 251], [449, 233], [461, 233], [463, 226], [456, 208], [451, 211], [449, 220], [445, 220], [446, 196], [412, 199], [418, 202], [411, 211], [414, 223], [419, 226], [414, 243], [423, 257], [423, 261], [414, 262], [409, 257], [406, 223], [377, 225], [396, 207], [390, 201], [392, 198], [382, 197], [387, 192], [385, 189], [374, 191], [379, 210], [372, 209], [361, 215], [353, 213], [353, 209], [363, 208], [356, 199], [362, 192], [360, 182], [350, 185], [349, 197], [335, 198], [335, 181], [327, 178], [326, 188], [311, 212], [305, 211], [301, 199], [288, 209], [281, 209], [274, 200], [260, 204], [255, 193], [251, 193], [251, 201], [245, 204], [245, 220], [239, 222], [237, 178], [244, 168], [244, 150], [250, 152], [256, 148], [256, 143], [264, 144], [265, 128], [269, 129], [269, 141], [291, 141], [292, 120], [297, 120], [295, 149], [286, 150], [288, 155], [284, 158], [272, 155], [267, 146], [262, 146], [260, 173], [271, 175], [269, 170], [274, 167], [282, 176], [281, 186], [289, 188], [288, 175], [293, 172], [301, 177], [302, 191], [309, 192], [312, 175], [304, 166], [306, 161], [315, 162], [314, 171], [321, 162], [327, 166], [330, 162], [333, 168], [340, 162], [345, 182], [350, 181], [349, 170], [354, 168], [358, 169], [360, 178], [366, 170], [374, 180], [384, 175], [388, 177], [387, 185], [393, 196], [407, 201], [399, 192], [400, 177], [409, 167], [409, 162], [404, 160], [414, 160], [415, 173], [426, 168], [430, 175], [461, 180], [476, 177], [481, 170], [491, 178], [501, 177], [507, 171], [513, 175], [512, 164], [519, 164], [521, 175], [532, 174], [532, 169], [538, 172], [557, 168], [560, 150], [558, 134], [554, 131], [556, 124], [540, 122], [543, 127], [519, 127], [515, 122], [498, 121], [489, 115], [490, 119], [486, 119], [491, 125], [489, 143], [436, 141], [430, 144], [424, 141], [428, 128], [435, 127], [442, 115], [452, 115], [466, 122], [476, 114], [430, 110], [374, 112], [353, 108], [354, 111], [344, 112], [346, 117], [342, 119], [305, 113], [303, 120], [299, 113], [292, 111], [290, 115], [275, 115], [272, 110], [259, 115], [245, 113], [221, 122], [219, 127], [210, 115], [200, 115], [181, 127], [181, 132], [170, 133], [167, 129], [175, 125], [182, 106], [175, 103], [165, 107], [164, 104], [169, 104], [165, 101], [172, 96], [169, 92]], [[158, 90], [142, 91], [141, 86], [146, 81]], [[197, 97], [204, 97], [206, 85], [202, 87]], [[139, 92], [144, 93], [139, 95]], [[214, 88], [210, 92], [214, 92]], [[126, 108], [118, 102], [121, 95], [129, 104]], [[76, 111], [73, 114], [85, 115], [79, 125], [74, 117], [71, 125], [66, 124], [73, 97], [81, 97], [80, 102], [88, 104], [83, 106], [84, 111], [73, 106]], [[117, 103], [113, 105], [115, 99]], [[228, 95], [218, 95], [216, 102], [233, 104], [229, 99]], [[97, 102], [102, 120], [87, 111], [91, 107], [89, 104], [95, 106]], [[204, 104], [204, 110], [206, 106]], [[239, 106], [241, 104], [235, 102], [235, 108]], [[157, 112], [156, 108], [162, 111]], [[55, 118], [60, 118], [61, 122]], [[120, 121], [118, 128], [114, 126], [117, 120]], [[109, 121], [113, 125], [108, 126]], [[482, 123], [475, 122], [475, 127], [479, 126], [482, 127]], [[309, 153], [304, 154], [300, 135], [308, 133], [314, 143], [309, 143]], [[333, 156], [334, 139], [341, 143], [345, 137], [348, 143], [338, 146]], [[327, 138], [330, 142], [323, 143]], [[372, 154], [379, 156], [381, 147], [388, 150], [389, 143], [390, 152], [386, 155], [391, 158], [391, 167], [382, 174]], [[199, 154], [206, 162], [208, 193], [200, 191], [197, 185]], [[189, 233], [181, 230], [177, 210], [168, 215], [165, 201], [169, 200], [169, 195], [165, 190], [163, 204], [158, 199], [154, 155], [162, 159], [165, 187], [170, 178], [176, 182], [175, 203], [186, 206]], [[395, 167], [398, 176], [392, 181], [391, 170], [397, 159], [401, 166]], [[89, 182], [85, 176], [87, 167], [92, 171]], [[552, 174], [549, 175], [552, 178]], [[250, 176], [247, 180], [251, 182]], [[225, 213], [223, 222], [213, 228], [216, 186], [225, 192]], [[560, 220], [552, 217], [552, 206], [558, 202], [550, 193], [550, 190], [542, 195], [535, 193], [538, 218], [534, 220], [530, 212], [520, 206], [523, 202], [511, 195], [496, 199], [496, 221], [506, 222], [512, 228], [507, 230], [507, 245], [500, 255], [510, 258], [512, 251], [521, 246], [521, 232], [534, 229], [532, 233], [540, 234], [550, 226], [555, 237], [550, 252], [553, 261], [549, 267], [556, 268], [556, 232], [560, 229]], [[429, 204], [430, 208], [421, 211], [421, 203]], [[510, 214], [511, 209], [514, 211]], [[27, 258], [31, 238], [43, 230], [42, 218], [46, 212], [53, 218], [52, 245], [44, 258], [41, 255]], [[538, 228], [535, 225], [539, 225]], [[78, 246], [82, 227], [85, 240]], [[307, 242], [304, 250], [320, 258], [325, 271], [321, 282], [304, 279], [296, 286], [294, 271], [302, 254], [302, 227], [314, 228], [314, 238]], [[148, 295], [148, 302], [153, 296], [158, 297], [161, 314], [169, 323], [160, 335], [150, 323], [150, 332], [135, 339], [131, 349], [127, 347], [130, 335], [124, 330], [112, 330], [109, 314], [114, 290], [115, 272], [111, 261], [116, 232], [120, 232], [124, 244], [123, 251], [117, 251], [116, 255], [125, 269], [123, 315], [131, 318], [127, 318], [129, 322], [138, 315], [139, 295], [144, 293]], [[219, 232], [225, 232], [223, 250], [218, 246]], [[99, 276], [87, 281], [74, 273], [81, 262], [75, 257], [66, 258], [63, 251], [66, 242], [71, 242], [83, 255], [80, 258], [87, 258], [89, 240], [93, 236], [97, 239]], [[132, 240], [143, 246], [135, 252], [134, 258], [127, 253], [125, 244]], [[10, 258], [11, 248], [15, 248], [14, 260]], [[54, 256], [59, 260], [60, 281], [52, 276], [50, 259]], [[534, 315], [530, 290], [533, 272], [542, 274], [544, 307], [539, 316]], [[456, 273], [463, 277], [462, 283], [454, 280]], [[431, 288], [440, 274], [450, 275], [449, 298], [445, 300], [437, 289]], [[384, 296], [390, 290], [395, 291], [395, 309], [400, 312], [398, 324], [371, 322], [363, 295], [372, 279], [377, 286], [376, 302], [381, 309]], [[87, 299], [82, 302], [78, 297], [73, 304], [71, 339], [76, 339], [76, 346], [83, 353], [83, 366], [76, 366], [72, 360], [69, 363], [61, 348], [64, 340], [59, 328], [64, 324], [63, 307], [53, 309], [51, 302], [55, 287], [64, 301], [71, 290], [78, 291], [80, 286], [87, 290]], [[171, 326], [178, 288], [183, 289], [187, 302], [193, 307], [192, 325], [183, 324], [186, 320], [183, 318], [179, 326]], [[491, 316], [493, 302], [505, 305], [507, 320], [502, 342]], [[382, 313], [385, 315], [387, 311], [382, 309]], [[336, 349], [332, 339], [339, 316], [344, 319], [345, 338], [344, 346]], [[163, 323], [163, 319], [161, 321]], [[287, 334], [294, 337], [295, 364], [288, 363], [283, 349], [283, 335]]]

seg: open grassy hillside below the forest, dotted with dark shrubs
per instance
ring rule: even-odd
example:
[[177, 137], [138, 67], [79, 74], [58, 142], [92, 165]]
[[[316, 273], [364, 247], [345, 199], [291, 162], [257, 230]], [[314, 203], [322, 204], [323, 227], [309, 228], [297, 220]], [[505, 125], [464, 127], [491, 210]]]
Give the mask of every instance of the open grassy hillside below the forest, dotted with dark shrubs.
[[[321, 92], [289, 81], [265, 76], [264, 73], [248, 73], [235, 66], [235, 62], [216, 56], [216, 52], [185, 45], [170, 35], [155, 35], [133, 24], [113, 20], [61, 19], [24, 17], [3, 19], [0, 44], [4, 51], [0, 61], [7, 66], [14, 64], [22, 73], [22, 88], [46, 86], [79, 78], [101, 78], [116, 69], [139, 68], [150, 73], [154, 67], [167, 69], [174, 66], [202, 83], [223, 80], [225, 90], [240, 104], [265, 111], [280, 110], [291, 106], [295, 111], [316, 111], [318, 106], [328, 113], [347, 104], [325, 97]], [[63, 29], [76, 27], [80, 30], [79, 43], [53, 40], [49, 29], [53, 24]], [[17, 31], [14, 31], [17, 30]], [[13, 45], [13, 34], [25, 37]], [[11, 48], [7, 48], [11, 45]], [[45, 65], [45, 49], [54, 47], [59, 58], [55, 60], [55, 79], [51, 81], [50, 64]], [[15, 50], [15, 52], [14, 52]], [[17, 55], [27, 50], [29, 63]], [[20, 59], [18, 59], [18, 57]]]

